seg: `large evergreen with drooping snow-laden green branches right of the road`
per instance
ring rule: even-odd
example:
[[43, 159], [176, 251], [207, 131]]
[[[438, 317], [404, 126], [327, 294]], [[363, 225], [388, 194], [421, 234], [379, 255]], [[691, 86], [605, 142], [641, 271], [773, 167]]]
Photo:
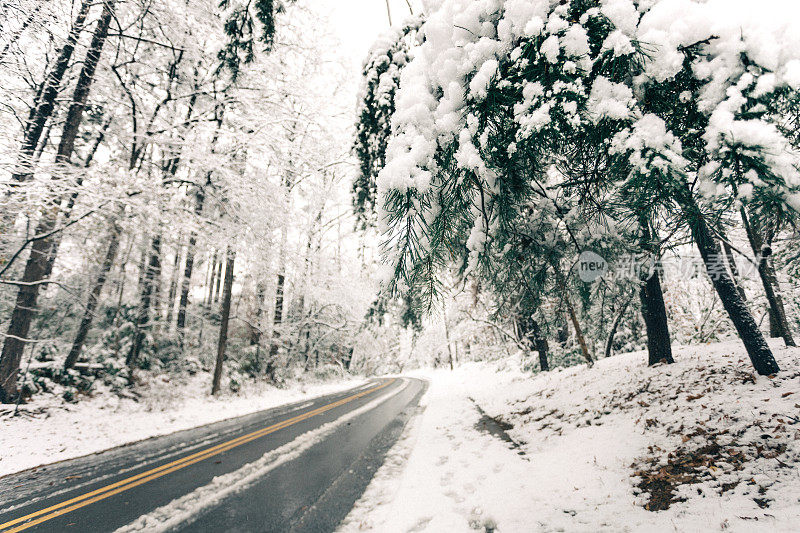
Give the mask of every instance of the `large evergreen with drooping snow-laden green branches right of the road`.
[[[708, 37], [681, 42], [648, 31], [673, 5], [616, 4], [508, 0], [497, 12], [452, 0], [429, 17], [421, 31], [437, 38], [406, 67], [378, 179], [394, 279], [435, 287], [453, 255], [491, 272], [502, 258], [493, 250], [529, 216], [521, 207], [544, 191], [563, 202], [559, 216], [577, 204], [587, 228], [606, 217], [640, 228], [656, 255], [651, 227], [688, 232], [754, 367], [774, 373], [717, 234], [745, 200], [796, 218], [798, 152], [764, 104], [792, 101], [795, 79], [756, 65], [758, 42], [741, 43], [740, 54], [718, 46], [740, 37], [711, 35], [701, 7], [682, 16]], [[725, 76], [707, 75], [712, 65]], [[663, 298], [649, 280], [643, 308], [660, 307], [649, 318], [661, 324], [648, 332], [661, 331], [663, 344]]]

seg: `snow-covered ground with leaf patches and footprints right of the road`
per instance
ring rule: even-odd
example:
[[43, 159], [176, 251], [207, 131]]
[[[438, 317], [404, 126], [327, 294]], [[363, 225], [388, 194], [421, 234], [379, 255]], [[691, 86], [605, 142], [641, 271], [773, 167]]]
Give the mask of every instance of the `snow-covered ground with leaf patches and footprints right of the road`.
[[341, 529], [797, 531], [800, 349], [779, 345], [775, 378], [736, 342], [652, 368], [425, 372], [424, 410]]

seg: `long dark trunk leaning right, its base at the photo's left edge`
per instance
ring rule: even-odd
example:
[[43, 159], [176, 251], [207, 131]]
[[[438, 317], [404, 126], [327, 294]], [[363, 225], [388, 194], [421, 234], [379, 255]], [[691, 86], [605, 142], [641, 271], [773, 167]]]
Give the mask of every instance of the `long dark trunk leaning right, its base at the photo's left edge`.
[[[113, 4], [111, 2], [103, 5], [103, 12], [92, 36], [89, 50], [86, 52], [83, 67], [78, 75], [78, 81], [56, 152], [55, 160], [59, 166], [69, 164], [70, 157], [75, 149], [75, 139], [78, 136], [78, 130], [83, 119], [83, 110], [89, 96], [89, 89], [94, 81], [100, 54], [108, 36], [112, 9]], [[28, 340], [33, 315], [36, 311], [39, 289], [53, 269], [55, 257], [52, 256], [51, 252], [54, 247], [58, 246], [59, 236], [55, 230], [58, 220], [58, 205], [60, 203], [60, 201], [57, 201], [51, 207], [44, 209], [37, 224], [36, 235], [38, 238], [31, 245], [31, 254], [25, 265], [22, 281], [19, 284], [16, 305], [11, 314], [8, 333], [3, 343], [2, 356], [0, 356], [0, 402], [13, 401], [17, 395], [19, 364], [22, 359], [22, 351]]]

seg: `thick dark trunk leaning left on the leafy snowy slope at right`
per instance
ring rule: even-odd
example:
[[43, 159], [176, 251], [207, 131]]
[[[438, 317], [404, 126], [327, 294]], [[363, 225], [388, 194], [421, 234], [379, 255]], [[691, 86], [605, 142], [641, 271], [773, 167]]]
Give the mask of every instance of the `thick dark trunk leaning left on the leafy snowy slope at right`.
[[684, 213], [691, 225], [692, 238], [703, 258], [711, 283], [739, 333], [756, 372], [761, 375], [775, 374], [780, 370], [778, 363], [775, 361], [764, 335], [758, 329], [753, 315], [747, 308], [747, 303], [742, 300], [733, 279], [725, 268], [720, 268], [720, 266], [724, 267], [724, 265], [720, 265], [722, 250], [712, 236], [700, 207], [694, 198], [689, 196], [690, 194], [690, 192], [686, 192], [687, 197], [683, 204]]

